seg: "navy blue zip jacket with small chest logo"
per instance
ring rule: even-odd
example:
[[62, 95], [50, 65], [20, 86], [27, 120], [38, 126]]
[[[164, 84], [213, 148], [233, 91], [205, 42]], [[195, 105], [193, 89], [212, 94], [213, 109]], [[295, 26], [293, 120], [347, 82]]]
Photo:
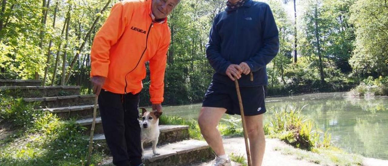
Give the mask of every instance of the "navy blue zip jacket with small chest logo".
[[279, 51], [279, 31], [267, 3], [247, 0], [241, 7], [220, 12], [210, 30], [206, 58], [215, 69], [213, 81], [234, 86], [225, 74], [230, 64], [246, 62], [253, 72], [242, 74], [240, 86], [268, 84], [266, 65]]

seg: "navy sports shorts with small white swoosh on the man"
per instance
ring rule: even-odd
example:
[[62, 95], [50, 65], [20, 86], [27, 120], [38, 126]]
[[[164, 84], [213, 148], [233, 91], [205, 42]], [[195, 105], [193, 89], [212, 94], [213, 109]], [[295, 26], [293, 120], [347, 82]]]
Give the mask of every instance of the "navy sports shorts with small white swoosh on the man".
[[[267, 86], [240, 87], [245, 116], [260, 115], [266, 112], [265, 92]], [[227, 109], [230, 115], [240, 114], [240, 105], [235, 86], [212, 81], [203, 99], [202, 107]]]

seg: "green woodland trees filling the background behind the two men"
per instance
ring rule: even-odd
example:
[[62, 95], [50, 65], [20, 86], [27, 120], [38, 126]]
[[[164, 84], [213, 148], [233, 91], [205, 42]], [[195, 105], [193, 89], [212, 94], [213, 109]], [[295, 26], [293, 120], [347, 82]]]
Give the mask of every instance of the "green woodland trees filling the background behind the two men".
[[[91, 43], [116, 2], [2, 0], [0, 78], [40, 76], [45, 85], [80, 85], [83, 93], [91, 93]], [[301, 5], [303, 12], [297, 27], [291, 19], [295, 13], [286, 12], [284, 0], [265, 2], [280, 39], [279, 54], [267, 66], [269, 95], [348, 90], [368, 76], [387, 76], [386, 0], [299, 1], [296, 7]], [[214, 73], [205, 44], [214, 17], [225, 7], [225, 0], [184, 0], [168, 17], [165, 104], [201, 102]], [[292, 63], [294, 45], [297, 63]], [[149, 70], [143, 84], [140, 102], [148, 105]]]

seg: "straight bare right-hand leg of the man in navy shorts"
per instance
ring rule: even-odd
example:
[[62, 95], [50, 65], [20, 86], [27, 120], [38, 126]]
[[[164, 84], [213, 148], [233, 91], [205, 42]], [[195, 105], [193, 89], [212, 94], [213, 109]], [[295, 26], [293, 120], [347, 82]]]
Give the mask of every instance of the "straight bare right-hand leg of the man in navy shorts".
[[265, 151], [265, 135], [263, 130], [263, 114], [245, 116], [249, 138], [249, 150], [253, 166], [261, 166]]

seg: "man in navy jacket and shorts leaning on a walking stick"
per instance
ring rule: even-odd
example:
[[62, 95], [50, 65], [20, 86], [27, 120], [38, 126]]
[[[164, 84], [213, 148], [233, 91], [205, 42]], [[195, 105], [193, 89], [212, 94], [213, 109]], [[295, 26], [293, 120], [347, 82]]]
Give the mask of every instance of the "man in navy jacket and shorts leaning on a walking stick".
[[[222, 115], [240, 114], [234, 79], [240, 85], [252, 164], [262, 164], [265, 150], [263, 113], [268, 84], [266, 65], [279, 51], [279, 32], [270, 7], [253, 0], [228, 0], [213, 22], [206, 58], [215, 69], [205, 94], [198, 123], [206, 142], [217, 154], [215, 166], [229, 166], [217, 130]], [[249, 73], [253, 73], [253, 81]]]

